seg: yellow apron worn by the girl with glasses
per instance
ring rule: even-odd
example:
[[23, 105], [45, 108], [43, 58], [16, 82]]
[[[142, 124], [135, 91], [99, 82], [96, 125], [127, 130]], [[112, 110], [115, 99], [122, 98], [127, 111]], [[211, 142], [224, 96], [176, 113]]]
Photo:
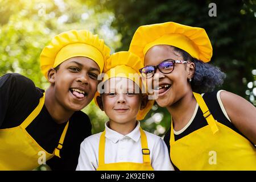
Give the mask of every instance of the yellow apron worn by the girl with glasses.
[[193, 93], [208, 125], [174, 140], [171, 122], [170, 156], [180, 170], [256, 170], [256, 149], [248, 139], [217, 122], [203, 97]]

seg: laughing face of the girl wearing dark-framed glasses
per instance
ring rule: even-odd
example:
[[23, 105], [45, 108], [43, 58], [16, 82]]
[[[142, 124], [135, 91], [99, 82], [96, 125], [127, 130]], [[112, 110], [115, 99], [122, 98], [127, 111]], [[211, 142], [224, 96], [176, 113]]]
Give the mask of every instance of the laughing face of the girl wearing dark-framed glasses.
[[[155, 66], [168, 59], [183, 60], [183, 57], [179, 52], [174, 51], [174, 48], [171, 46], [157, 45], [147, 51], [144, 58], [144, 66]], [[188, 79], [192, 78], [191, 74], [193, 73], [193, 69], [188, 66], [189, 64], [193, 63], [175, 63], [174, 71], [167, 74], [157, 69], [155, 75], [152, 78], [148, 78], [150, 82], [152, 81], [153, 89], [156, 94], [156, 102], [159, 106], [171, 106], [191, 90]], [[155, 83], [158, 84], [156, 85]]]

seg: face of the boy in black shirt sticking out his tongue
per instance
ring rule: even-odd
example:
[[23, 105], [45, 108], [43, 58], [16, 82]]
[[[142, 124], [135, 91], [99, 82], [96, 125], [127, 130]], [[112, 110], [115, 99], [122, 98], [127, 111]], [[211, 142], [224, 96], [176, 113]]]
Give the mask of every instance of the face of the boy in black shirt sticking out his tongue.
[[100, 68], [87, 57], [72, 57], [60, 64], [49, 79], [56, 101], [67, 110], [78, 111], [92, 101]]

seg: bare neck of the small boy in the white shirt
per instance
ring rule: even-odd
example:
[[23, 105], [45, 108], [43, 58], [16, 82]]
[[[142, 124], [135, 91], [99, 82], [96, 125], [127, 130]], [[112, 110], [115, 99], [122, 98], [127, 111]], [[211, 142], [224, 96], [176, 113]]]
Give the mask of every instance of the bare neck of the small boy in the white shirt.
[[127, 135], [127, 134], [131, 133], [131, 131], [133, 131], [136, 126], [137, 126], [136, 119], [134, 119], [134, 121], [129, 121], [126, 123], [118, 123], [118, 122], [114, 122], [111, 119], [109, 119], [109, 128], [114, 131], [117, 131], [118, 133], [120, 133], [122, 135]]

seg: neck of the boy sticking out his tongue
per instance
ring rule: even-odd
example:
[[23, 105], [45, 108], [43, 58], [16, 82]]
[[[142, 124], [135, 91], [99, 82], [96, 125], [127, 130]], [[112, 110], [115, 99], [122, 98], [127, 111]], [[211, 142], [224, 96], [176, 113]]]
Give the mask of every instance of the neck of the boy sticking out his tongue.
[[71, 118], [74, 111], [65, 109], [59, 101], [57, 101], [55, 97], [55, 91], [53, 86], [50, 86], [46, 90], [46, 99], [44, 101], [44, 105], [46, 106], [49, 114], [51, 115], [52, 119], [58, 123], [67, 122], [69, 118]]

